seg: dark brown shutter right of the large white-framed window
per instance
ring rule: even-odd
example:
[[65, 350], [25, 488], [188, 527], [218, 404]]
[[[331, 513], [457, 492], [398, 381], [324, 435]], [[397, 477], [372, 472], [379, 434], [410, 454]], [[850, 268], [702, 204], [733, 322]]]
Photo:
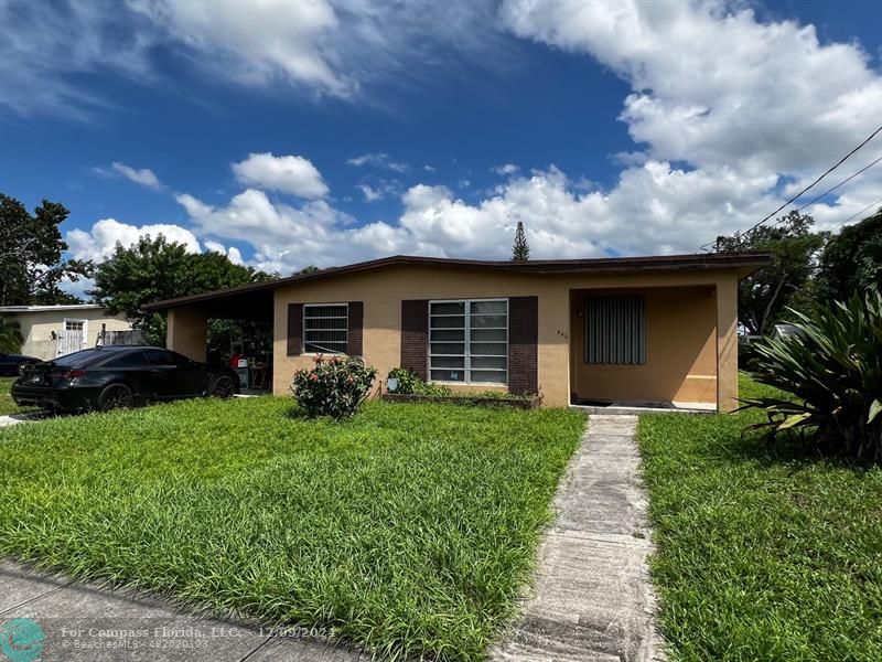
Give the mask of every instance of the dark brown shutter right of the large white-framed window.
[[539, 391], [539, 299], [508, 299], [508, 391]]

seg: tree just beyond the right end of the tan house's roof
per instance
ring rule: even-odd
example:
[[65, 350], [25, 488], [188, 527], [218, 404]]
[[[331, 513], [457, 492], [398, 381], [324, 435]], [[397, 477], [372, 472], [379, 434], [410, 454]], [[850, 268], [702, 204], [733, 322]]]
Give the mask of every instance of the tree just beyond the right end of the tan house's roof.
[[798, 307], [813, 263], [827, 237], [827, 233], [811, 232], [814, 223], [808, 214], [792, 211], [746, 235], [717, 238], [720, 253], [756, 250], [772, 255], [770, 266], [739, 285], [738, 318], [749, 333], [765, 335], [785, 317], [788, 307]]

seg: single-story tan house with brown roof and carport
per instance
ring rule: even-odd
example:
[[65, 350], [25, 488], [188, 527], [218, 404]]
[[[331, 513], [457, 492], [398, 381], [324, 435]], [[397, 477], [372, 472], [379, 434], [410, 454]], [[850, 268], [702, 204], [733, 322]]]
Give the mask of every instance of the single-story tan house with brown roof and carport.
[[[731, 410], [738, 284], [766, 255], [529, 261], [395, 256], [159, 301], [168, 346], [205, 360], [206, 320], [272, 322], [272, 391], [319, 353], [408, 367], [454, 391], [547, 406], [674, 403]], [[383, 387], [383, 386], [380, 386]]]

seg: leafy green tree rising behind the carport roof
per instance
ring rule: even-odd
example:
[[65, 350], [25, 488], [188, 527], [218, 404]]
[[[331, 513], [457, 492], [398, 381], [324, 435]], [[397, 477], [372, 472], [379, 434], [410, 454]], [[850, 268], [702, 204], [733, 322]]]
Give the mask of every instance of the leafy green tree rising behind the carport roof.
[[125, 314], [149, 342], [164, 344], [165, 318], [147, 312], [148, 303], [272, 278], [220, 253], [187, 253], [183, 244], [148, 235], [128, 247], [118, 243], [95, 269], [95, 289], [88, 293], [110, 314]]

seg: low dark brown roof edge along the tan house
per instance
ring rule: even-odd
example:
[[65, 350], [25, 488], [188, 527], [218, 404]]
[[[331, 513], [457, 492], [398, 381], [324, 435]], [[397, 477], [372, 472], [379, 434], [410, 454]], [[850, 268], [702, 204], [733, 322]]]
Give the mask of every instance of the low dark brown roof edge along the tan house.
[[701, 269], [736, 269], [740, 276], [746, 276], [766, 266], [772, 258], [766, 253], [699, 253], [690, 255], [655, 255], [644, 257], [596, 257], [589, 259], [530, 259], [481, 260], [456, 259], [448, 257], [419, 257], [413, 255], [394, 255], [367, 261], [354, 263], [342, 267], [330, 267], [312, 274], [300, 274], [267, 282], [241, 285], [223, 290], [176, 297], [154, 301], [147, 310], [165, 310], [176, 306], [198, 302], [215, 302], [245, 292], [271, 292], [280, 287], [312, 280], [334, 278], [345, 274], [368, 271], [391, 266], [424, 266], [445, 269], [469, 269], [501, 271], [506, 274], [534, 274], [537, 276], [553, 274], [613, 274], [622, 271], [668, 271]]

